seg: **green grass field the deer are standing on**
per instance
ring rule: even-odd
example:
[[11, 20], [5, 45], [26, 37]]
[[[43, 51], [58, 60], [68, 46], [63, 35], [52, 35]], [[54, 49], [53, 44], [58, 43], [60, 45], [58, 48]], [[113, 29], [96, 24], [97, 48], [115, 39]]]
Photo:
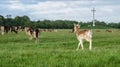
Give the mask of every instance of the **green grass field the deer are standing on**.
[[93, 49], [76, 51], [70, 30], [42, 32], [38, 44], [24, 32], [0, 35], [0, 67], [120, 67], [120, 31], [93, 30]]

